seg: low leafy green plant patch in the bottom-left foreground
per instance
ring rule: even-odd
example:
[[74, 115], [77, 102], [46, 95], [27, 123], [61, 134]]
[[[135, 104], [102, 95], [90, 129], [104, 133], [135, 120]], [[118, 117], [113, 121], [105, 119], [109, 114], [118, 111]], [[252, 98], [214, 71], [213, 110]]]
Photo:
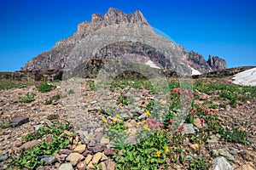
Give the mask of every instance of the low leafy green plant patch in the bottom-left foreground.
[[8, 162], [9, 166], [20, 169], [35, 169], [42, 165], [42, 162], [38, 161], [38, 156], [50, 156], [69, 144], [69, 137], [64, 133], [64, 130], [70, 130], [70, 128], [70, 122], [56, 122], [51, 127], [40, 127], [36, 133], [27, 134], [23, 138], [24, 142], [41, 139], [40, 143], [28, 150], [21, 150], [19, 154], [12, 156]]

